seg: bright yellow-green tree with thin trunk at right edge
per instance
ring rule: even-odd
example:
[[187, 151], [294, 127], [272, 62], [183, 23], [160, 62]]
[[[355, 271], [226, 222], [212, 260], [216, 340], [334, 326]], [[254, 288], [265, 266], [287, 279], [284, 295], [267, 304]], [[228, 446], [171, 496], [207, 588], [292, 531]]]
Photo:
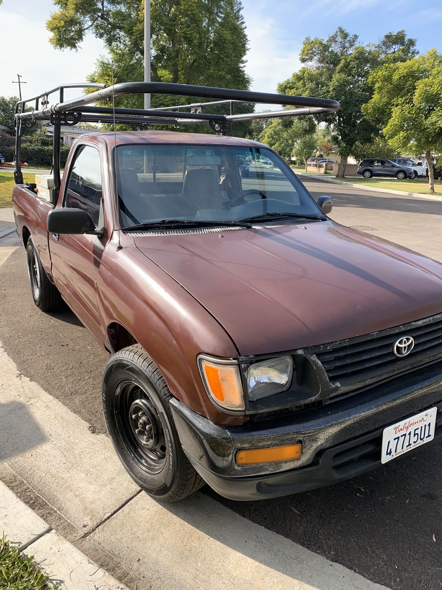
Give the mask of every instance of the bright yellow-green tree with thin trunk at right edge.
[[434, 192], [431, 152], [442, 152], [442, 54], [433, 49], [404, 63], [385, 63], [370, 83], [374, 93], [363, 112], [382, 125], [397, 152], [425, 153]]

